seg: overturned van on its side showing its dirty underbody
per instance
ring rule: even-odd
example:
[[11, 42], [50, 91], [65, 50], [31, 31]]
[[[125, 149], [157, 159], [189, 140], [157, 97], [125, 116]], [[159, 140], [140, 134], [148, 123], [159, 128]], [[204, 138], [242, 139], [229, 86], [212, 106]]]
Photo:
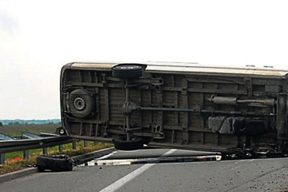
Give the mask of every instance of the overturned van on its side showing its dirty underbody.
[[73, 138], [120, 150], [288, 150], [288, 69], [75, 62], [60, 91], [60, 133]]

